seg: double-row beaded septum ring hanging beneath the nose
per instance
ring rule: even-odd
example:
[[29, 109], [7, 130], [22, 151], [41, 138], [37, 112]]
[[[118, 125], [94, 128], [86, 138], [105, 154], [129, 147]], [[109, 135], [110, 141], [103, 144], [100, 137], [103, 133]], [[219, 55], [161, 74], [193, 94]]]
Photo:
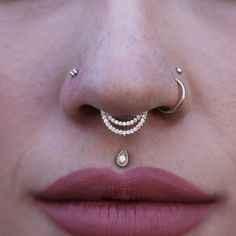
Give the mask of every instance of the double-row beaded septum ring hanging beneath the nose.
[[[103, 120], [104, 124], [106, 125], [106, 127], [111, 132], [113, 132], [117, 135], [122, 135], [122, 136], [131, 135], [131, 134], [134, 134], [135, 132], [137, 132], [144, 125], [144, 123], [147, 119], [147, 115], [148, 115], [148, 112], [145, 111], [145, 112], [137, 115], [132, 120], [119, 121], [119, 120], [116, 120], [115, 118], [113, 118], [108, 113], [101, 111], [101, 117], [102, 117], [102, 120]], [[123, 128], [128, 127], [128, 129], [116, 128], [115, 125], [117, 127], [123, 127]]]

